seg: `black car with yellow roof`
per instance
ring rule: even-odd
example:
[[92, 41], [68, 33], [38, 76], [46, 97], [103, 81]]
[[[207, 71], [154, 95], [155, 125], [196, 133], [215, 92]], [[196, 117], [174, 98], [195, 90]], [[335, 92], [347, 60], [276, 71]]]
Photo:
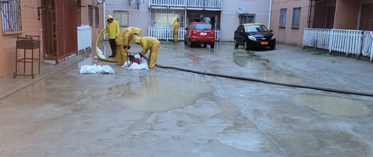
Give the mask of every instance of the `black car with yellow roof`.
[[239, 45], [244, 46], [245, 50], [260, 47], [274, 50], [276, 38], [272, 30], [268, 30], [263, 24], [242, 24], [235, 31], [235, 48]]

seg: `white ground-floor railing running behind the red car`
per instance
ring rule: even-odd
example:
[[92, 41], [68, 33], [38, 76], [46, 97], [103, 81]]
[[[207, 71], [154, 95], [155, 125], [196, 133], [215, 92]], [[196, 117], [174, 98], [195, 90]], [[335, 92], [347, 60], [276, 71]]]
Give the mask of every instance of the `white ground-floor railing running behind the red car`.
[[[186, 30], [185, 28], [179, 28], [178, 38], [184, 40]], [[158, 40], [173, 40], [172, 27], [148, 27], [148, 35], [157, 38]], [[220, 40], [220, 29], [215, 29], [215, 40]]]

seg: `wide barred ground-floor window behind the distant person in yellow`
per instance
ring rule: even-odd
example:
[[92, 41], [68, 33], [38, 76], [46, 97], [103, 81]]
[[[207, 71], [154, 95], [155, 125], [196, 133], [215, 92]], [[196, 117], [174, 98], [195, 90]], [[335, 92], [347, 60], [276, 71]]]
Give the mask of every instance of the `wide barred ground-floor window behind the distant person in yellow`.
[[183, 9], [150, 9], [150, 26], [172, 27], [174, 19], [179, 19], [181, 28], [185, 27], [185, 11]]

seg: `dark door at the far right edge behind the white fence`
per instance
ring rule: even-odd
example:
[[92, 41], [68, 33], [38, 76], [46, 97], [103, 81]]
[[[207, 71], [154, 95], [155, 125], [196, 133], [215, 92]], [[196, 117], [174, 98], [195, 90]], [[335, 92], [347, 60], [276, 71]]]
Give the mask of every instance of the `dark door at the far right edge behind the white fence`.
[[359, 29], [373, 31], [373, 4], [363, 4], [360, 15]]

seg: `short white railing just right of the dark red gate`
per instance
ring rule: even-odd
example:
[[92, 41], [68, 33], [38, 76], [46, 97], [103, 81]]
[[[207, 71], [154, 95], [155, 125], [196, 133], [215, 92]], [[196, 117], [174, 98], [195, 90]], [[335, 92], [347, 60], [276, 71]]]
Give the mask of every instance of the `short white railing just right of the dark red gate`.
[[89, 25], [78, 26], [78, 51], [86, 48], [92, 49], [92, 27]]

